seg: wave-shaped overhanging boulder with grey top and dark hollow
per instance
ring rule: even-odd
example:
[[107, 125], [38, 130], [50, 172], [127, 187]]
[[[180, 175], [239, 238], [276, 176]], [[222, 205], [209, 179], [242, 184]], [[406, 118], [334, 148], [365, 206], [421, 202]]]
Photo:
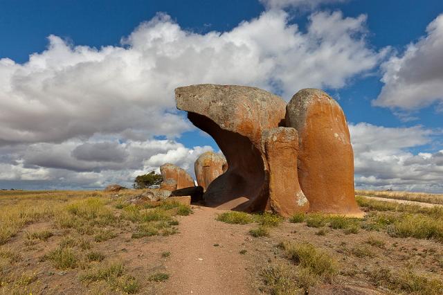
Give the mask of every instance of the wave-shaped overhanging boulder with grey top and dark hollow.
[[213, 136], [228, 169], [204, 194], [207, 206], [262, 211], [269, 199], [269, 172], [262, 132], [284, 122], [282, 98], [255, 87], [200, 84], [175, 89], [177, 108]]

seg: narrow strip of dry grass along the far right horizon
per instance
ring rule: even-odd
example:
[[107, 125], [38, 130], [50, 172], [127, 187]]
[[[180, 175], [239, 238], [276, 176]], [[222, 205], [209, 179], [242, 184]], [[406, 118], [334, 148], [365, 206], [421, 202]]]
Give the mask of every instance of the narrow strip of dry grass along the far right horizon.
[[356, 195], [383, 197], [386, 199], [405, 199], [407, 201], [443, 204], [443, 195], [429, 193], [395, 192], [387, 190], [356, 190]]

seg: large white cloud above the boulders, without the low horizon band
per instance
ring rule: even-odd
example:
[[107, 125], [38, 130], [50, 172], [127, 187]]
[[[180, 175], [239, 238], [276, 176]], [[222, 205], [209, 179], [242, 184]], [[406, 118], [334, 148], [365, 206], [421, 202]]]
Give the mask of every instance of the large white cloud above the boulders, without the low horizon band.
[[251, 84], [289, 98], [304, 87], [343, 87], [377, 64], [379, 54], [359, 36], [364, 16], [319, 12], [306, 33], [287, 18], [264, 12], [229, 32], [200, 35], [159, 14], [122, 46], [99, 49], [51, 35], [47, 50], [24, 64], [0, 60], [0, 144], [177, 136], [190, 126], [176, 114], [175, 87]]

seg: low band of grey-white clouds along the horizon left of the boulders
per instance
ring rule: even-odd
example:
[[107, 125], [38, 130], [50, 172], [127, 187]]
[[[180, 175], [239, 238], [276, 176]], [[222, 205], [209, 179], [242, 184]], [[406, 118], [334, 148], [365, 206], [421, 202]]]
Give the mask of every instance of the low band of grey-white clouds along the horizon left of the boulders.
[[[100, 188], [113, 182], [130, 186], [136, 175], [158, 171], [163, 163], [174, 163], [194, 175], [197, 157], [213, 150], [188, 148], [172, 140], [93, 140], [17, 145], [13, 151], [0, 147], [0, 152], [8, 153], [0, 159], [0, 187], [11, 181], [28, 182], [28, 188]], [[108, 154], [115, 157], [104, 158]]]

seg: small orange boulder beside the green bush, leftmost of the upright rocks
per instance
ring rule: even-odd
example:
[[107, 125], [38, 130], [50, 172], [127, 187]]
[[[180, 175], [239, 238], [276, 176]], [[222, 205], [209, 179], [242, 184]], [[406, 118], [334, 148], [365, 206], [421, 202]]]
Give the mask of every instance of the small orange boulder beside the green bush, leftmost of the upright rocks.
[[195, 186], [194, 180], [183, 168], [172, 164], [165, 164], [160, 167], [160, 172], [161, 177], [163, 177], [163, 183], [160, 185], [161, 188], [172, 191]]

